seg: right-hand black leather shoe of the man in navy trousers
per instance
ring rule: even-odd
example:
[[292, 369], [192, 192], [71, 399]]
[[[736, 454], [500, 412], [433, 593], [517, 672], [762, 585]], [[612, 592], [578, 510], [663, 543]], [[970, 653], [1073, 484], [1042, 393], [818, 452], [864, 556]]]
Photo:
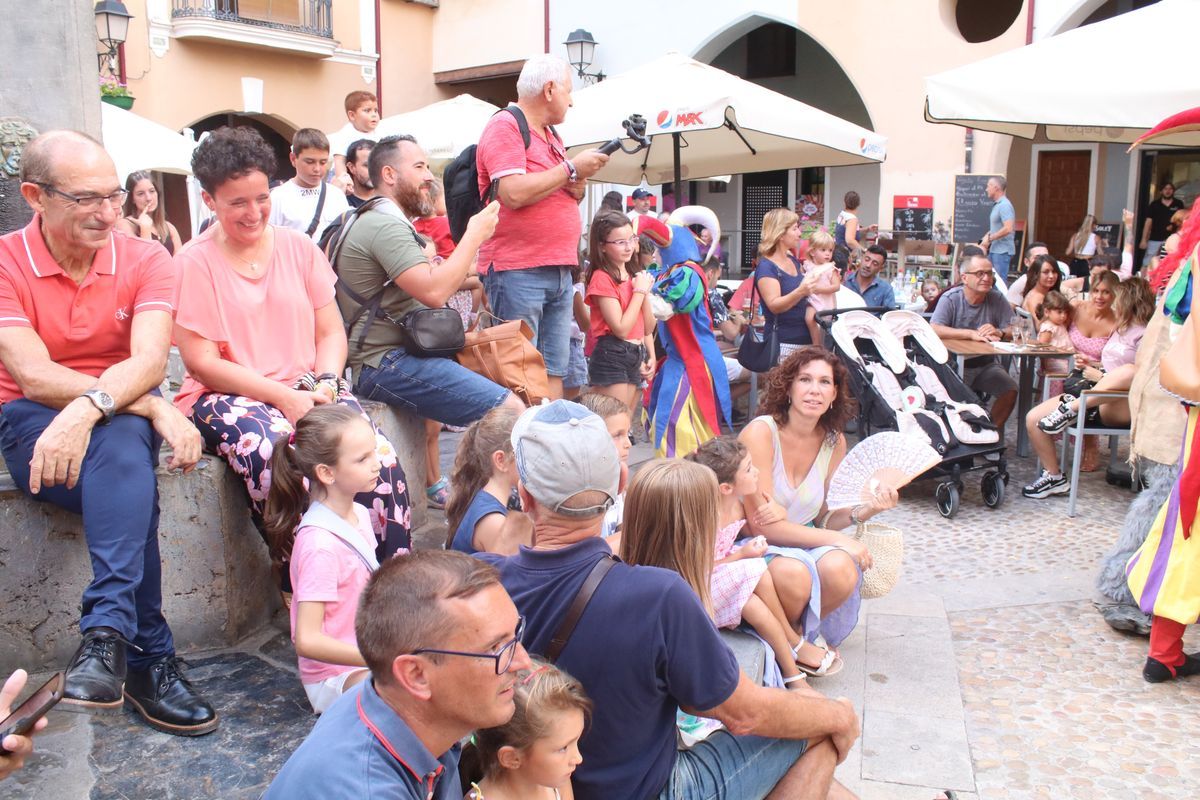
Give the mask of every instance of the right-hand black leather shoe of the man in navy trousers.
[[217, 712], [180, 672], [182, 660], [163, 656], [145, 669], [131, 669], [125, 697], [151, 728], [176, 736], [203, 736], [217, 729]]

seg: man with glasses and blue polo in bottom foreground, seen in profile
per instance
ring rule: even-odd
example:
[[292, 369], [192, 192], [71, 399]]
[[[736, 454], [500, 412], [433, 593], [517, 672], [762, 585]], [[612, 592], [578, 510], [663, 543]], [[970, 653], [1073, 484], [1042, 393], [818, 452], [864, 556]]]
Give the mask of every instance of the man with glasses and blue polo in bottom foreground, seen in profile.
[[372, 678], [340, 697], [264, 800], [460, 800], [458, 741], [504, 724], [529, 669], [523, 620], [496, 569], [454, 551], [389, 559], [354, 634]]

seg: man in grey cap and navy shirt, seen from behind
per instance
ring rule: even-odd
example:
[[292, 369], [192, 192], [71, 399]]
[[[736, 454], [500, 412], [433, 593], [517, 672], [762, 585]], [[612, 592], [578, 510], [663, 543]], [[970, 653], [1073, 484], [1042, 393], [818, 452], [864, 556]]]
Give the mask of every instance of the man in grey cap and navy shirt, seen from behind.
[[[524, 411], [512, 449], [536, 545], [479, 558], [499, 566], [527, 620], [523, 642], [545, 652], [592, 567], [610, 554], [600, 527], [624, 468], [604, 421], [568, 401]], [[858, 738], [850, 700], [756, 686], [670, 570], [614, 565], [557, 664], [595, 703], [571, 780], [577, 800], [852, 796], [833, 781]], [[679, 708], [728, 730], [679, 752]]]

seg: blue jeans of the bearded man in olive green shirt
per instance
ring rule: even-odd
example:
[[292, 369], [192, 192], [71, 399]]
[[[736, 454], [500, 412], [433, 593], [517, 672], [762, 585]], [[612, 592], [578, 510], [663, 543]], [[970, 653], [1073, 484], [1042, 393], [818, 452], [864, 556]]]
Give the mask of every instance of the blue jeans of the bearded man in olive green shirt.
[[384, 354], [379, 367], [364, 365], [355, 395], [446, 425], [470, 425], [508, 398], [454, 359], [418, 359], [403, 348]]

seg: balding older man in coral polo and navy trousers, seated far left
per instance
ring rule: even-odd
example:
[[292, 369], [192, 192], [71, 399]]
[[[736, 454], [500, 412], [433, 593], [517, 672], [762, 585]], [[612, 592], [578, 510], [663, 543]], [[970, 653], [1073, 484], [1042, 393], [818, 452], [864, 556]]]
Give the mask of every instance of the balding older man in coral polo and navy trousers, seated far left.
[[18, 487], [83, 515], [94, 575], [60, 708], [128, 698], [160, 730], [209, 733], [216, 712], [181, 675], [162, 615], [158, 446], [185, 471], [200, 456], [196, 427], [156, 393], [174, 265], [113, 230], [126, 192], [82, 133], [34, 139], [20, 193], [34, 219], [0, 236], [0, 452]]

